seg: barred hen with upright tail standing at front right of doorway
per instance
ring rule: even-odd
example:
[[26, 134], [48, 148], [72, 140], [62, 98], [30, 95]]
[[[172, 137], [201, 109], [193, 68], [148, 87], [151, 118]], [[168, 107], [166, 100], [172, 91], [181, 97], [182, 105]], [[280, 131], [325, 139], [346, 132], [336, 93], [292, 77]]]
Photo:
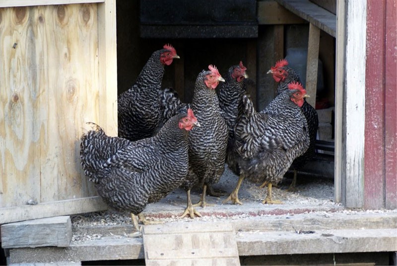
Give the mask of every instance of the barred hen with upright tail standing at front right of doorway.
[[267, 196], [263, 203], [282, 203], [273, 200], [272, 184], [277, 184], [292, 161], [309, 147], [307, 122], [300, 107], [306, 90], [300, 84], [291, 83], [262, 112], [256, 112], [247, 94], [239, 105], [239, 117], [235, 126], [233, 151], [240, 177], [236, 188], [224, 200], [242, 204], [238, 191], [244, 178], [252, 182], [267, 182]]

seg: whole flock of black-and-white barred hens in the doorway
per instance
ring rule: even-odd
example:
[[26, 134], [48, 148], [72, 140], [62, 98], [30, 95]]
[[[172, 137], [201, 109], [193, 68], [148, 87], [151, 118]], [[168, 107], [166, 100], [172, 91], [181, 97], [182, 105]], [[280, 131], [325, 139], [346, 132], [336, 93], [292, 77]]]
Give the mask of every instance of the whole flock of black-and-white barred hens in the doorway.
[[[206, 195], [219, 196], [217, 183], [227, 165], [239, 178], [223, 201], [242, 204], [243, 180], [267, 186], [264, 204], [273, 199], [272, 185], [289, 170], [296, 171], [314, 155], [318, 129], [316, 110], [306, 90], [283, 59], [267, 72], [278, 83], [277, 96], [258, 112], [246, 91], [247, 68], [240, 62], [222, 77], [209, 65], [196, 79], [193, 100], [183, 102], [172, 88], [162, 88], [165, 66], [178, 59], [169, 44], [152, 53], [136, 82], [118, 98], [118, 137], [94, 124], [83, 134], [80, 162], [85, 176], [109, 207], [131, 213], [138, 229], [142, 211], [176, 188], [186, 191], [181, 217], [201, 216]], [[237, 179], [237, 178], [236, 178]], [[202, 188], [193, 204], [191, 189]]]

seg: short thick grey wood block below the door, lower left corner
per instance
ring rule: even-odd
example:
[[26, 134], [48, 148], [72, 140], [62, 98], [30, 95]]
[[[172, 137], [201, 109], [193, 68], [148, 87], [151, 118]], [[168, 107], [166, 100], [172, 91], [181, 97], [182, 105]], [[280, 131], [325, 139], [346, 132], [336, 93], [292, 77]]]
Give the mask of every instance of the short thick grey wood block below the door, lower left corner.
[[4, 249], [68, 247], [71, 235], [70, 216], [3, 224], [1, 247]]

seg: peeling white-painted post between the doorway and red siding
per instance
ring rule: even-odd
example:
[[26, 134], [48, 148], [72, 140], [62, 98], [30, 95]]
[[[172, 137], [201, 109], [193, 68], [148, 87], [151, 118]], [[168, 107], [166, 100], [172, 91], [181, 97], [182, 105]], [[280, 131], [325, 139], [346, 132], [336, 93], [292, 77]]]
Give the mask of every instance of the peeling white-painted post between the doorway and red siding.
[[[337, 13], [339, 18], [344, 17], [344, 33], [337, 37], [344, 38], [345, 57], [341, 61], [341, 51], [337, 50], [335, 157], [340, 162], [336, 164], [335, 182], [342, 180], [345, 189], [341, 200], [348, 208], [361, 208], [364, 204], [366, 8], [366, 3], [359, 0], [338, 2]], [[338, 21], [338, 30], [341, 25]], [[341, 65], [343, 72], [339, 70]]]

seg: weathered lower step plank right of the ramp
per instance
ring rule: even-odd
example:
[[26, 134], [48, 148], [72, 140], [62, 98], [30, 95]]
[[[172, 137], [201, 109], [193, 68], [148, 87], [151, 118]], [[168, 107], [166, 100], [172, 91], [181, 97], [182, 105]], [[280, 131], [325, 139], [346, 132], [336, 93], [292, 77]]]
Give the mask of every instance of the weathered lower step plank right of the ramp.
[[397, 246], [395, 234], [396, 229], [326, 230], [312, 234], [242, 232], [236, 239], [239, 254], [244, 256], [352, 253], [393, 251]]

